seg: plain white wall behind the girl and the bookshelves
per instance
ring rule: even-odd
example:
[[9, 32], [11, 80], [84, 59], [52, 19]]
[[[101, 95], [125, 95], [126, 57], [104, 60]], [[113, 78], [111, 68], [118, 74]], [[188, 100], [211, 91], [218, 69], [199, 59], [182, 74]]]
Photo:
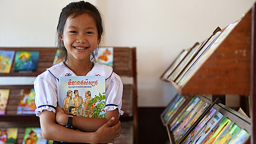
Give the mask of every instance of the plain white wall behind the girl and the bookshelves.
[[[1, 0], [0, 46], [55, 46], [68, 0]], [[159, 77], [182, 49], [246, 13], [255, 0], [92, 0], [104, 17], [105, 46], [136, 46], [138, 104], [166, 106], [176, 91]]]

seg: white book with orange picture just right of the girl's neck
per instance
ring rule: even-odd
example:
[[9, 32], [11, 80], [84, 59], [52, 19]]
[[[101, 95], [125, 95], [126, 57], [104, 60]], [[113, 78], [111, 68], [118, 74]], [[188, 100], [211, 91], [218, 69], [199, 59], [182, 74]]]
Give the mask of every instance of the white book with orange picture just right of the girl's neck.
[[113, 52], [113, 47], [99, 48], [99, 53], [96, 57], [96, 63], [113, 67]]

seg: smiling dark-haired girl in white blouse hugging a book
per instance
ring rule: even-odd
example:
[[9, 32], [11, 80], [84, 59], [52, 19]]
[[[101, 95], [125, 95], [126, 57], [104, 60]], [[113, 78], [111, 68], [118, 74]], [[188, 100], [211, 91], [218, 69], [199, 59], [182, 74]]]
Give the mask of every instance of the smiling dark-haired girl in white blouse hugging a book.
[[[43, 138], [72, 143], [109, 143], [119, 137], [121, 96], [123, 84], [120, 77], [108, 66], [96, 64], [95, 48], [99, 47], [103, 33], [99, 11], [89, 2], [72, 2], [64, 7], [57, 27], [58, 46], [65, 61], [38, 75], [35, 80], [36, 115], [40, 116]], [[68, 116], [59, 107], [59, 77], [62, 76], [105, 76], [106, 108], [105, 118], [73, 117], [77, 131], [68, 129]], [[57, 123], [56, 123], [57, 122]], [[72, 122], [71, 122], [72, 124]], [[54, 142], [54, 143], [60, 143]]]

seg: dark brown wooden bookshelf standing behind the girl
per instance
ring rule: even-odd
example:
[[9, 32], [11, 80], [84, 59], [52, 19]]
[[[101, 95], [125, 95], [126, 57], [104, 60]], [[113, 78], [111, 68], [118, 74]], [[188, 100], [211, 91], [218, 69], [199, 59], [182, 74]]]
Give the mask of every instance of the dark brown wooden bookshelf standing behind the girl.
[[[0, 89], [9, 89], [6, 114], [0, 116], [0, 128], [17, 127], [17, 143], [22, 143], [26, 127], [40, 127], [39, 117], [35, 115], [17, 115], [20, 90], [33, 88], [37, 75], [53, 65], [57, 48], [0, 48], [0, 50], [39, 51], [36, 72], [14, 72], [14, 61], [9, 74], [0, 74]], [[136, 78], [136, 48], [113, 47], [113, 70], [120, 75], [123, 82], [123, 116], [121, 136], [115, 143], [138, 143], [138, 107]], [[3, 82], [4, 81], [4, 82]], [[12, 82], [14, 81], [14, 82]], [[4, 83], [8, 83], [7, 85]], [[11, 84], [9, 84], [11, 83]]]

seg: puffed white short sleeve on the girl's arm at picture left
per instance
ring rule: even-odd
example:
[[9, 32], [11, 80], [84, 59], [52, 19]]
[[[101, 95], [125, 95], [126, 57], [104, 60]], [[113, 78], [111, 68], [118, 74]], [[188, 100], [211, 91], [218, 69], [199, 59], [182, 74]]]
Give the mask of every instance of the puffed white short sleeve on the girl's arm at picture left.
[[56, 112], [58, 93], [54, 83], [56, 83], [54, 78], [50, 78], [49, 82], [49, 80], [42, 75], [38, 75], [35, 79], [35, 105], [37, 106], [35, 114], [37, 116], [40, 116], [40, 112], [43, 110]]

